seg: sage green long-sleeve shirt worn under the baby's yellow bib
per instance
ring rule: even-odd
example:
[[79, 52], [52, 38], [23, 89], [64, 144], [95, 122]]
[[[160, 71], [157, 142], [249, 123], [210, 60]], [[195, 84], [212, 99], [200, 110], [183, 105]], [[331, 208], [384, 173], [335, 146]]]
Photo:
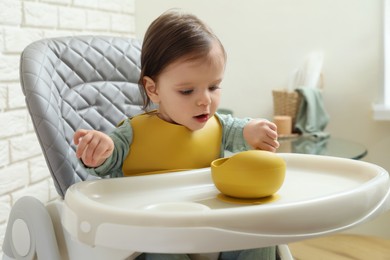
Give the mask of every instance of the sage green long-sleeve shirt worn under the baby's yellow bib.
[[[216, 116], [222, 125], [220, 157], [224, 156], [226, 150], [239, 152], [250, 149], [243, 137], [243, 128], [250, 120], [249, 118], [240, 119], [224, 114], [216, 114]], [[87, 168], [87, 171], [97, 176], [123, 177], [122, 165], [133, 142], [131, 119], [126, 119], [110, 134], [110, 137], [115, 147], [112, 155], [99, 167]]]

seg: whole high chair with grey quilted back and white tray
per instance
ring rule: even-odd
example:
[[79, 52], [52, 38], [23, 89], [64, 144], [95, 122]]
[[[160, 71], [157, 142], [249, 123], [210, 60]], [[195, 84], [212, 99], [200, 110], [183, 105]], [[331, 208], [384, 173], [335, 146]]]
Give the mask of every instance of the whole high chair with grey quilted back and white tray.
[[210, 253], [278, 245], [279, 259], [290, 260], [285, 244], [339, 232], [389, 208], [384, 169], [323, 156], [280, 154], [283, 187], [251, 202], [221, 199], [209, 168], [88, 175], [73, 133], [109, 132], [143, 112], [139, 60], [139, 41], [108, 36], [43, 39], [23, 51], [21, 84], [59, 198], [15, 203], [3, 259], [134, 259], [137, 252], [215, 259]]

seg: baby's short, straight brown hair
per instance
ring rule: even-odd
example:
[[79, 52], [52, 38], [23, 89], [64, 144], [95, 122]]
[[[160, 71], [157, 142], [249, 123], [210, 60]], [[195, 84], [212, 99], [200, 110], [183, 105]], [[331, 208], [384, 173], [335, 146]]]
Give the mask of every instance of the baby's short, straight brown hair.
[[195, 15], [167, 11], [154, 20], [145, 33], [141, 52], [141, 75], [138, 81], [147, 109], [151, 100], [146, 94], [143, 78], [156, 80], [159, 74], [179, 58], [197, 60], [206, 57], [217, 42], [226, 59], [218, 37]]

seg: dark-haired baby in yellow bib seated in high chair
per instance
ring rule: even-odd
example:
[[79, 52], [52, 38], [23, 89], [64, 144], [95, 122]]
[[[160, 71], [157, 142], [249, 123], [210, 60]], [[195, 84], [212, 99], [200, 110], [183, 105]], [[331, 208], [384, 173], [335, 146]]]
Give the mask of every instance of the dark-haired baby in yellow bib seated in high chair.
[[[147, 112], [125, 119], [109, 135], [76, 131], [76, 155], [87, 171], [111, 177], [155, 174], [209, 167], [225, 150], [274, 152], [279, 146], [275, 124], [216, 113], [226, 58], [219, 39], [196, 16], [169, 11], [158, 17], [141, 52], [139, 86]], [[152, 104], [157, 109], [148, 111]], [[139, 259], [189, 256], [142, 254]], [[275, 247], [222, 252], [220, 259], [275, 259]]]

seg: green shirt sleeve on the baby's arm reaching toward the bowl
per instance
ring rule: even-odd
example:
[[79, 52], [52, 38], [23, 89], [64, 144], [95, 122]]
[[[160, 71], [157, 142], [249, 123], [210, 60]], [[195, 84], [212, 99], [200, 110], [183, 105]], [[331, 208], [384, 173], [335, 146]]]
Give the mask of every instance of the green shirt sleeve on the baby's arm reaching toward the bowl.
[[232, 115], [217, 114], [223, 129], [221, 149], [232, 153], [252, 149], [245, 141], [243, 135], [244, 126], [251, 120], [249, 117], [236, 118]]

